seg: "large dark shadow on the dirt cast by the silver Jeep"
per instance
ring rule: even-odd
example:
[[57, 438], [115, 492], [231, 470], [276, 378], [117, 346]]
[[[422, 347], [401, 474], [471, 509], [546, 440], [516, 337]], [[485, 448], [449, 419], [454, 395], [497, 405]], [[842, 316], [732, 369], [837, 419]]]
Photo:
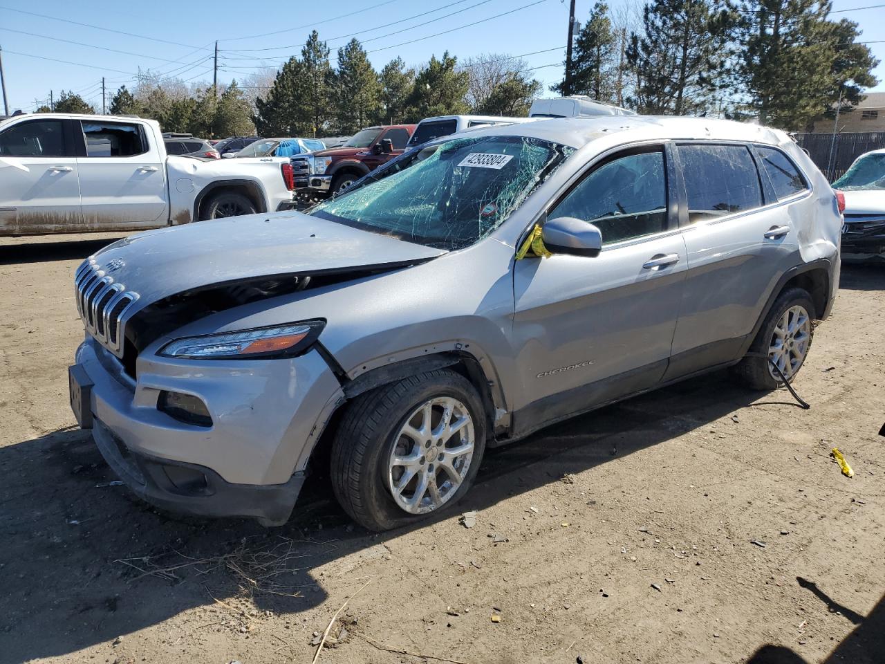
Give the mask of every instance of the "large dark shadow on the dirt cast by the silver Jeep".
[[[435, 521], [709, 426], [759, 397], [709, 374], [562, 422], [490, 450], [477, 485]], [[243, 593], [261, 610], [298, 614], [327, 598], [316, 567], [405, 532], [354, 528], [321, 476], [278, 529], [171, 518], [109, 486], [116, 477], [91, 436], [73, 429], [0, 448], [0, 473], [4, 661], [65, 655]]]

